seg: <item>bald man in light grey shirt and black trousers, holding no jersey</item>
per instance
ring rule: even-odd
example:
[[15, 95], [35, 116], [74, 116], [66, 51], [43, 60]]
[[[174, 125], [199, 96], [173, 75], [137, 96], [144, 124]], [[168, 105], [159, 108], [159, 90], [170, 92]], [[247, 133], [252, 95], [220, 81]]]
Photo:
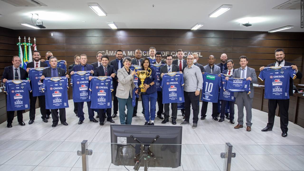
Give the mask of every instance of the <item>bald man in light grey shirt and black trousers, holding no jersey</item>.
[[181, 125], [189, 124], [190, 106], [193, 109], [193, 125], [192, 128], [197, 127], [199, 120], [199, 109], [197, 101], [199, 100], [199, 92], [203, 86], [203, 76], [201, 69], [193, 64], [194, 57], [187, 56], [187, 67], [184, 69], [184, 97], [185, 97], [185, 120]]

